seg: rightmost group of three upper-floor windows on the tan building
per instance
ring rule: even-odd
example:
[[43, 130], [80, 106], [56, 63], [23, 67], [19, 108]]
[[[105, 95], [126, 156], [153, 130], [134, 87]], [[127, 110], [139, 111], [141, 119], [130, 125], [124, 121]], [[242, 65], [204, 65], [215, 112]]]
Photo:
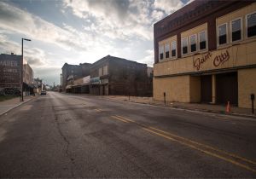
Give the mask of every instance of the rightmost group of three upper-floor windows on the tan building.
[[[247, 38], [256, 36], [256, 12], [253, 14], [246, 15], [246, 34]], [[229, 23], [224, 23], [218, 26], [218, 45], [224, 45], [228, 43], [228, 26], [230, 25], [230, 41], [231, 43], [242, 40], [243, 28], [242, 18], [232, 20]]]

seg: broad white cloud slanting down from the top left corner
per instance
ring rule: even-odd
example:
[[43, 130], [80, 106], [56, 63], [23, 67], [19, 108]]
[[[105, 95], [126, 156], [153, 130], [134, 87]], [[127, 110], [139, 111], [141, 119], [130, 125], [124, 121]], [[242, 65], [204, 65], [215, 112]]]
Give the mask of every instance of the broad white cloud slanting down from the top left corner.
[[0, 28], [44, 43], [53, 43], [67, 50], [86, 49], [86, 45], [81, 43], [84, 39], [9, 3], [0, 2]]

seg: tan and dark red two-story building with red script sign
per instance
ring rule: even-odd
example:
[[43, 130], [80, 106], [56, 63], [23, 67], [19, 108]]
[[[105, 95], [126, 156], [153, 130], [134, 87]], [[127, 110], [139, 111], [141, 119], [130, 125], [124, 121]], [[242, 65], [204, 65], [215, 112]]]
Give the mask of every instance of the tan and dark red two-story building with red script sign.
[[255, 1], [195, 0], [154, 24], [154, 100], [251, 107]]

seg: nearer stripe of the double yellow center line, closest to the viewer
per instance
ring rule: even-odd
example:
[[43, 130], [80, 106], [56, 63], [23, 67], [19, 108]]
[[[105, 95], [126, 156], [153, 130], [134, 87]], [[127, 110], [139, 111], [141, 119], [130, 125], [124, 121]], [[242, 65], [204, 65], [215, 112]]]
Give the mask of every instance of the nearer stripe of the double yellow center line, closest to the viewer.
[[164, 137], [164, 138], [166, 138], [166, 139], [168, 139], [168, 140], [170, 140], [170, 141], [177, 141], [178, 143], [183, 144], [184, 146], [194, 148], [195, 150], [201, 151], [202, 153], [207, 153], [208, 155], [211, 155], [211, 156], [216, 157], [216, 158], [218, 158], [218, 159], [223, 159], [224, 161], [230, 162], [230, 163], [233, 164], [233, 165], [237, 165], [237, 166], [240, 166], [241, 168], [244, 168], [244, 169], [247, 169], [247, 170], [256, 172], [256, 170], [254, 170], [253, 168], [251, 168], [251, 167], [249, 167], [249, 166], [247, 166], [247, 165], [242, 165], [241, 163], [238, 163], [238, 162], [236, 162], [236, 161], [234, 161], [234, 160], [232, 160], [232, 159], [227, 159], [227, 158], [225, 158], [225, 157], [223, 157], [223, 156], [221, 156], [221, 155], [218, 155], [218, 154], [216, 154], [216, 153], [211, 153], [211, 152], [209, 152], [209, 151], [206, 151], [206, 150], [203, 150], [203, 149], [201, 149], [201, 148], [195, 147], [194, 145], [185, 143], [185, 142], [183, 142], [183, 141], [178, 141], [178, 140], [172, 138], [171, 136], [166, 136], [166, 135], [160, 134], [160, 133], [158, 133], [158, 132], [155, 132], [154, 130], [149, 130], [149, 129], [147, 129], [147, 128], [143, 128], [143, 130], [147, 130], [148, 132], [151, 132], [151, 133], [153, 133], [153, 134], [155, 134], [155, 135], [157, 135], [157, 136], [162, 136], [162, 137]]

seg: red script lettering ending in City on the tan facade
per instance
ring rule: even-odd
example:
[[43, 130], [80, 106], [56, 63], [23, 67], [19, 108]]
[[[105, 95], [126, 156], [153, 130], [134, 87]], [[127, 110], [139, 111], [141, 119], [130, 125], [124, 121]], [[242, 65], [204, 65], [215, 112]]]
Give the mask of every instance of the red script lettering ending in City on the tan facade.
[[[202, 56], [201, 58], [196, 58], [195, 61], [193, 61], [193, 66], [196, 68], [197, 71], [201, 69], [201, 66], [209, 61], [212, 57], [212, 52], [208, 52], [207, 55]], [[216, 55], [213, 59], [213, 66], [220, 66], [223, 65], [225, 61], [230, 60], [230, 53], [226, 49], [224, 53], [220, 53], [220, 55]]]

